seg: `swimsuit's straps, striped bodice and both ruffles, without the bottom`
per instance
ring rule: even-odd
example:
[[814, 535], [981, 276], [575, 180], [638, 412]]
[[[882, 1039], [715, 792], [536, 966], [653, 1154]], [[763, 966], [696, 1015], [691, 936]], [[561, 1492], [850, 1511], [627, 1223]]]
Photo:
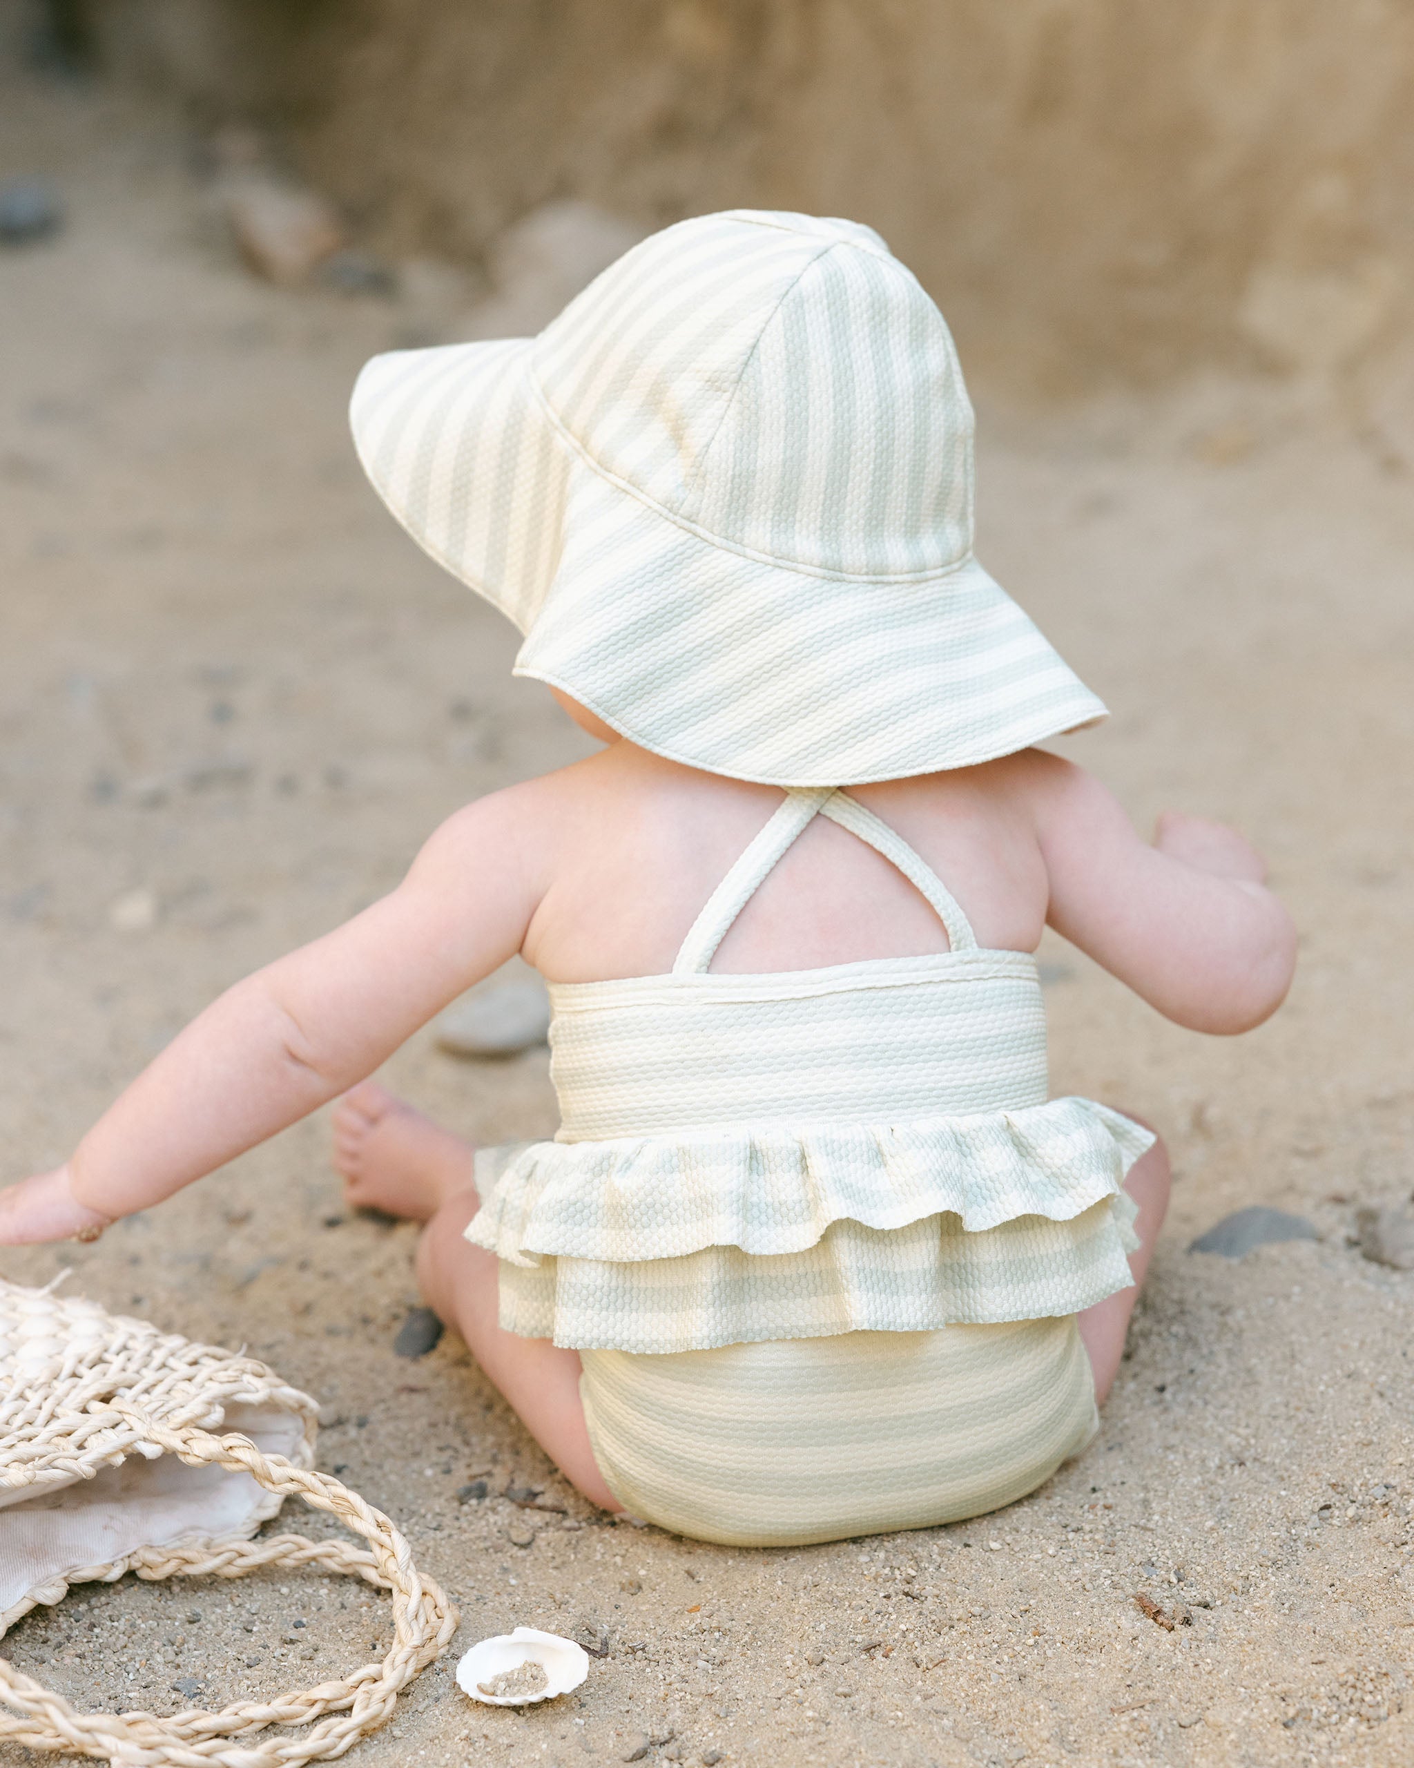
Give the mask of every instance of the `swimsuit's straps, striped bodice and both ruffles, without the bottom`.
[[[712, 974], [781, 854], [832, 815], [935, 905], [953, 949]], [[841, 792], [787, 792], [670, 976], [551, 990], [553, 1142], [484, 1149], [467, 1238], [500, 1322], [576, 1349], [1075, 1314], [1129, 1284], [1122, 1190], [1152, 1135], [1046, 1098], [1025, 953], [977, 948], [933, 870]]]

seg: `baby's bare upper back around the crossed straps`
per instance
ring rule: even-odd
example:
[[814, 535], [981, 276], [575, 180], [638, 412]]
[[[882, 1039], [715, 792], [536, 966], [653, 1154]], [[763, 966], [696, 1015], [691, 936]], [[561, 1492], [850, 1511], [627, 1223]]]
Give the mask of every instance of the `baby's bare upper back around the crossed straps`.
[[[1048, 882], [1025, 757], [850, 787], [942, 877], [984, 946], [1034, 951]], [[525, 941], [550, 981], [672, 967], [702, 905], [781, 803], [778, 787], [679, 767], [629, 743], [559, 776], [569, 836]], [[718, 948], [714, 971], [792, 971], [946, 951], [947, 934], [887, 859], [817, 817]]]

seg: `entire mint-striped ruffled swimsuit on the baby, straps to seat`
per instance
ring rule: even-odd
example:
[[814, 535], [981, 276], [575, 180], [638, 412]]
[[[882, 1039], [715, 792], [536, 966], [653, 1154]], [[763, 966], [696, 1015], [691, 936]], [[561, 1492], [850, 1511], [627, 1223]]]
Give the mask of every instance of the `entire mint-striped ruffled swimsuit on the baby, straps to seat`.
[[[921, 891], [949, 949], [718, 974], [815, 815]], [[1036, 960], [977, 946], [841, 790], [790, 790], [666, 976], [551, 987], [553, 1142], [484, 1149], [467, 1238], [500, 1324], [580, 1351], [635, 1515], [735, 1545], [1013, 1503], [1098, 1427], [1075, 1315], [1131, 1282], [1152, 1135], [1048, 1098]]]

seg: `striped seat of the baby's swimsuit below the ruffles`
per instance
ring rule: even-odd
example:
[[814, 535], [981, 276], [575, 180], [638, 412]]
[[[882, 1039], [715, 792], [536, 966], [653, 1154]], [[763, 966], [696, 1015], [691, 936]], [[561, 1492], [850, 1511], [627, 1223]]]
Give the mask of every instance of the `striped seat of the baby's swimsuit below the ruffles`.
[[1000, 1510], [1099, 1429], [1073, 1314], [580, 1356], [594, 1459], [619, 1503], [730, 1547]]

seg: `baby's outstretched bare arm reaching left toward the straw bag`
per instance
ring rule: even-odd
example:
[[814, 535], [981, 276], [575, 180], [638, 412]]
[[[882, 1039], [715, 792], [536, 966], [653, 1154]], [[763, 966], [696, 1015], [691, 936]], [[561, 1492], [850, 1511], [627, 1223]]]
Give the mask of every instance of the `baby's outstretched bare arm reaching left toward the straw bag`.
[[0, 1245], [161, 1202], [373, 1073], [520, 949], [544, 873], [543, 781], [458, 812], [403, 884], [214, 1001], [72, 1160], [0, 1192]]

